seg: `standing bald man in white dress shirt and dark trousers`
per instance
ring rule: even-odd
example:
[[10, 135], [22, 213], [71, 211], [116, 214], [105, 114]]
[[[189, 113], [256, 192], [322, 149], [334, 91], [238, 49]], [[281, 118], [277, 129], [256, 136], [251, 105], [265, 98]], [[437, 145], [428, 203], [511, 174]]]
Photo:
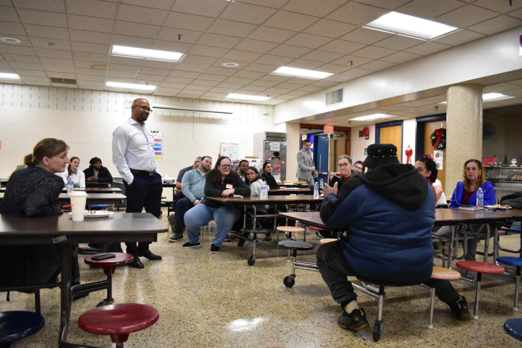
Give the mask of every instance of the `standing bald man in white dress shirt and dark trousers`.
[[[112, 134], [112, 161], [123, 178], [127, 213], [140, 213], [143, 208], [159, 218], [163, 184], [156, 163], [154, 137], [145, 121], [152, 110], [147, 99], [135, 99], [132, 103], [132, 117], [118, 126]], [[125, 243], [127, 253], [134, 256], [129, 263], [133, 268], [144, 268], [139, 257], [161, 260], [152, 254], [147, 242]]]

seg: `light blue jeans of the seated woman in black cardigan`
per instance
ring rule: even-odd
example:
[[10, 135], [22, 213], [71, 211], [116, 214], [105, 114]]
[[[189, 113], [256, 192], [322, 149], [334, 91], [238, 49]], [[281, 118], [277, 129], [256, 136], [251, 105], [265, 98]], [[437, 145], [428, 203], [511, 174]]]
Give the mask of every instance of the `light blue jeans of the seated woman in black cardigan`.
[[199, 227], [205, 226], [210, 220], [216, 221], [217, 231], [213, 245], [221, 246], [227, 234], [232, 229], [234, 222], [239, 220], [241, 212], [238, 208], [231, 206], [221, 206], [210, 208], [199, 203], [194, 208], [185, 213], [185, 226], [187, 227], [188, 241], [191, 244], [199, 242]]

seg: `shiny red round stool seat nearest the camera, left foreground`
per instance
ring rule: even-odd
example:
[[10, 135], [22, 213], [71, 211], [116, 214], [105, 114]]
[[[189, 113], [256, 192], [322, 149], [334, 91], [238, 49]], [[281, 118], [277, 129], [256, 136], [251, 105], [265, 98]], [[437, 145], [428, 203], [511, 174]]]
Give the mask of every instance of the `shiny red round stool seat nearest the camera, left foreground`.
[[129, 333], [154, 325], [159, 319], [156, 308], [137, 303], [119, 303], [86, 311], [78, 318], [78, 327], [97, 335], [110, 335], [116, 348], [123, 348]]

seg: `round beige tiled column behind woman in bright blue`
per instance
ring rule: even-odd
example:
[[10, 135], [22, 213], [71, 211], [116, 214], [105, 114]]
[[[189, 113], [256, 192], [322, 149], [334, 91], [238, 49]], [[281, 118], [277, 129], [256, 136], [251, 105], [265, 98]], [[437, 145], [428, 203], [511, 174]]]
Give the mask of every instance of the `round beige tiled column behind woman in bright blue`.
[[482, 161], [482, 86], [457, 85], [447, 90], [446, 195], [462, 181], [462, 166], [473, 158]]

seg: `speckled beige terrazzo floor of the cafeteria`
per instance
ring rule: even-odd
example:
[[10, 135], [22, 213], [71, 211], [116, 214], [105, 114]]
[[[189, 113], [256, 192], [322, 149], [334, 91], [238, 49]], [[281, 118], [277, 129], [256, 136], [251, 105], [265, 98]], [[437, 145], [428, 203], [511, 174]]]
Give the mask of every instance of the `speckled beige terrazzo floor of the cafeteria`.
[[[162, 221], [167, 224], [165, 215], [166, 211]], [[203, 247], [199, 249], [182, 249], [181, 242], [169, 243], [169, 235], [160, 234], [158, 243], [151, 246], [163, 260], [141, 258], [145, 269], [120, 267], [114, 274], [115, 302], [148, 304], [160, 314], [156, 325], [131, 333], [126, 347], [520, 347], [520, 342], [502, 328], [506, 319], [522, 317], [512, 309], [514, 282], [502, 275], [484, 276], [479, 320], [454, 320], [449, 308], [437, 300], [433, 330], [426, 328], [428, 289], [388, 288], [384, 331], [381, 341], [375, 343], [372, 328], [376, 299], [359, 295], [370, 329], [358, 333], [340, 329], [337, 317], [341, 309], [318, 272], [298, 270], [295, 285], [291, 289], [283, 285], [290, 263], [286, 262], [286, 249], [276, 243], [265, 242], [258, 249], [255, 266], [249, 267], [246, 259], [250, 248], [238, 247], [235, 241], [224, 243], [219, 254], [210, 254], [212, 229], [201, 236]], [[316, 247], [319, 245], [317, 237], [308, 237]], [[505, 236], [501, 244], [518, 248], [518, 241], [517, 235]], [[315, 262], [315, 250], [301, 255], [302, 260]], [[81, 281], [103, 279], [101, 269], [89, 269], [83, 257]], [[464, 281], [454, 285], [472, 306], [472, 285]], [[114, 346], [109, 337], [86, 333], [77, 326], [78, 316], [96, 306], [104, 295], [91, 293], [74, 302], [69, 342]], [[5, 293], [0, 293], [0, 298], [0, 310], [34, 309], [32, 295], [11, 293], [11, 302], [5, 302]], [[41, 298], [46, 325], [37, 334], [14, 343], [14, 348], [57, 346], [60, 292], [43, 290]]]

